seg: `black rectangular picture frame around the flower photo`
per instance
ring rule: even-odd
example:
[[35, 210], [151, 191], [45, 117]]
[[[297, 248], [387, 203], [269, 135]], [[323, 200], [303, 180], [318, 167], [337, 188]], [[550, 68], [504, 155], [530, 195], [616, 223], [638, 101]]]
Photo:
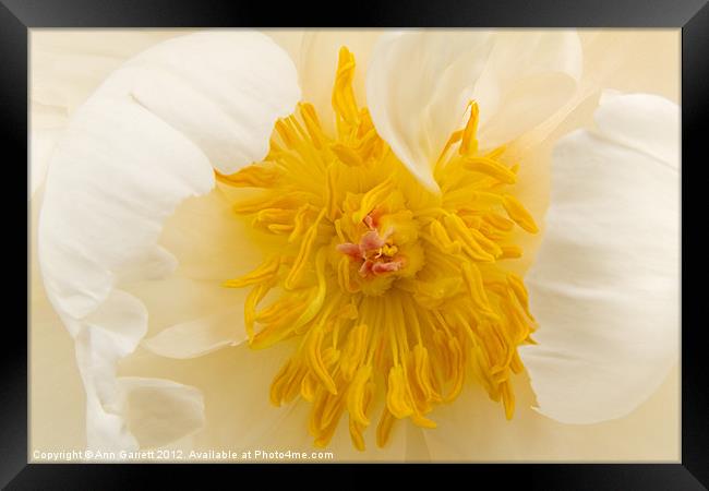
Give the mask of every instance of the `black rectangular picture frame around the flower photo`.
[[[28, 29], [35, 27], [242, 27], [242, 26], [429, 26], [429, 27], [674, 27], [682, 28], [682, 460], [677, 464], [510, 464], [446, 465], [445, 469], [428, 466], [397, 466], [397, 471], [432, 470], [444, 484], [446, 476], [470, 479], [470, 486], [485, 480], [520, 483], [531, 489], [573, 490], [695, 490], [709, 487], [709, 357], [705, 354], [706, 315], [699, 296], [704, 287], [693, 287], [690, 277], [696, 265], [706, 261], [701, 231], [706, 228], [706, 204], [693, 202], [698, 196], [693, 188], [702, 180], [706, 166], [706, 141], [709, 96], [709, 5], [707, 0], [545, 0], [545, 1], [454, 1], [417, 2], [358, 1], [351, 8], [338, 2], [337, 9], [312, 10], [304, 3], [291, 2], [278, 8], [272, 2], [239, 0], [0, 0], [0, 109], [2, 143], [12, 149], [5, 153], [5, 179], [13, 170], [14, 184], [4, 185], [7, 200], [3, 215], [16, 215], [16, 228], [5, 230], [15, 238], [14, 249], [5, 258], [21, 268], [23, 254], [29, 261], [28, 237], [20, 233], [21, 221], [29, 220], [28, 206], [22, 216], [26, 191], [20, 182], [27, 178], [20, 165], [27, 159], [27, 41]], [[329, 11], [329, 13], [327, 13]], [[316, 15], [315, 12], [319, 12]], [[323, 15], [329, 15], [324, 19]], [[695, 161], [696, 160], [696, 161]], [[695, 189], [694, 191], [697, 191]], [[706, 192], [706, 191], [705, 191]], [[15, 195], [16, 194], [16, 195]], [[694, 197], [693, 197], [694, 196]], [[7, 213], [13, 212], [13, 213]], [[693, 215], [697, 215], [693, 217]], [[700, 224], [699, 227], [695, 226]], [[686, 226], [686, 227], [685, 227]], [[692, 238], [690, 233], [697, 235]], [[5, 244], [8, 243], [7, 241]], [[3, 244], [3, 249], [5, 247]], [[24, 252], [23, 252], [24, 250]], [[22, 273], [17, 273], [22, 278]], [[27, 278], [27, 272], [25, 272]], [[28, 280], [27, 280], [28, 282]], [[141, 466], [141, 465], [48, 465], [27, 464], [27, 336], [19, 321], [29, 310], [28, 285], [25, 291], [12, 280], [3, 282], [8, 292], [5, 308], [17, 312], [17, 320], [7, 322], [0, 349], [0, 486], [8, 489], [123, 489], [144, 484], [156, 475], [170, 476], [188, 482], [188, 474], [213, 472], [216, 466]], [[697, 285], [701, 283], [697, 282]], [[3, 287], [4, 289], [4, 287]], [[27, 294], [23, 301], [22, 295]], [[26, 306], [23, 307], [23, 306]], [[24, 315], [23, 315], [24, 314]], [[704, 319], [704, 321], [702, 321]], [[695, 321], [696, 322], [692, 322]], [[27, 323], [28, 326], [28, 323]], [[271, 466], [250, 466], [272, 471]], [[308, 466], [279, 465], [286, 479]], [[332, 464], [329, 471], [340, 479], [322, 479], [325, 486], [363, 481], [361, 467]], [[243, 479], [244, 466], [220, 466], [220, 471], [238, 474]], [[440, 472], [441, 471], [441, 472]], [[398, 472], [397, 472], [398, 474]], [[465, 476], [462, 476], [465, 474]], [[158, 479], [161, 479], [158, 478]], [[213, 478], [208, 478], [213, 479]], [[227, 478], [228, 479], [228, 478]], [[298, 478], [296, 478], [298, 479]], [[445, 479], [445, 480], [443, 480]], [[483, 480], [484, 479], [484, 480]], [[209, 483], [209, 480], [202, 481]], [[243, 481], [242, 481], [243, 482]], [[293, 482], [293, 481], [291, 481]]]

